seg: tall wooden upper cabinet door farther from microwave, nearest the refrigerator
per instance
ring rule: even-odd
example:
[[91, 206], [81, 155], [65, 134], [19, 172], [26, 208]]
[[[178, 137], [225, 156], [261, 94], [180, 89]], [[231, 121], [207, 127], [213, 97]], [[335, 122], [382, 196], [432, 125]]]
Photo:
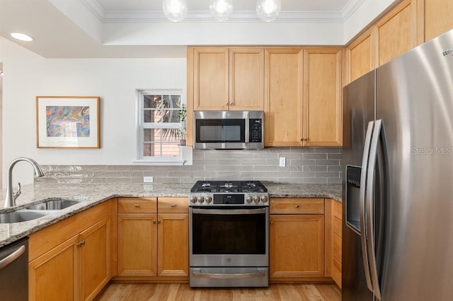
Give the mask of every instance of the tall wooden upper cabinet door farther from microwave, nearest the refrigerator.
[[341, 146], [341, 49], [304, 50], [304, 146]]

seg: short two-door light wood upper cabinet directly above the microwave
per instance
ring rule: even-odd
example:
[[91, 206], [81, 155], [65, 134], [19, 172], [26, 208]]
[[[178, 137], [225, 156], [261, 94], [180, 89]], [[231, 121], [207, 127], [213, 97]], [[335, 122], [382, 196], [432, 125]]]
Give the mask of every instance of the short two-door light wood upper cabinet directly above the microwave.
[[194, 48], [190, 59], [194, 111], [263, 110], [263, 48]]

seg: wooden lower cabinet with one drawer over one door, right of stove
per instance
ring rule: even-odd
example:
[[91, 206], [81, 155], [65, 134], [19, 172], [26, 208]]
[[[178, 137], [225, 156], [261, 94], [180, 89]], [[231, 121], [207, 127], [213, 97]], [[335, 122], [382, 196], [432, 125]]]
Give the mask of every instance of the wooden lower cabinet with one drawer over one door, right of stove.
[[324, 199], [270, 199], [270, 281], [324, 276]]

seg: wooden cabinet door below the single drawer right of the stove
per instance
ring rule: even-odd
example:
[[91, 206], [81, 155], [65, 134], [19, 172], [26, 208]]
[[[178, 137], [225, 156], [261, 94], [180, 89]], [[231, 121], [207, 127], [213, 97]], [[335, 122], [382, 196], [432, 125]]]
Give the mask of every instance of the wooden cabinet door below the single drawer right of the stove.
[[270, 277], [324, 276], [324, 216], [270, 216]]

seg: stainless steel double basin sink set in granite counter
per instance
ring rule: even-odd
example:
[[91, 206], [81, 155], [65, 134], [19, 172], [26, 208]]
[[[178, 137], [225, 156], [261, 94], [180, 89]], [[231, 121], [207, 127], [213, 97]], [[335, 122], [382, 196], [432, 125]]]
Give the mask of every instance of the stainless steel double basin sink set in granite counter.
[[19, 223], [35, 220], [36, 218], [42, 218], [42, 216], [47, 216], [64, 208], [74, 206], [81, 201], [84, 200], [47, 199], [46, 201], [28, 206], [24, 209], [0, 213], [0, 223]]

